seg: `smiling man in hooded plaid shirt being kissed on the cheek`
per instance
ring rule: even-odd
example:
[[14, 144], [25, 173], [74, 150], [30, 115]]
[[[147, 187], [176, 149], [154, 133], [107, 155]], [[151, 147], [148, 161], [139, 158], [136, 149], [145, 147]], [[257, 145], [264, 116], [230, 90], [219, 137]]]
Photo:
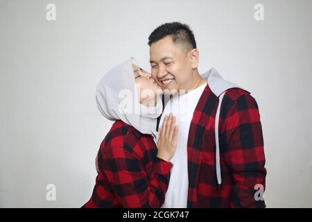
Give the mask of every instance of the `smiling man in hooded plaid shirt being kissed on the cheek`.
[[162, 207], [265, 207], [257, 102], [215, 69], [200, 76], [199, 51], [186, 24], [162, 24], [150, 34], [148, 44], [153, 78], [172, 95], [159, 127], [169, 112], [179, 126]]

